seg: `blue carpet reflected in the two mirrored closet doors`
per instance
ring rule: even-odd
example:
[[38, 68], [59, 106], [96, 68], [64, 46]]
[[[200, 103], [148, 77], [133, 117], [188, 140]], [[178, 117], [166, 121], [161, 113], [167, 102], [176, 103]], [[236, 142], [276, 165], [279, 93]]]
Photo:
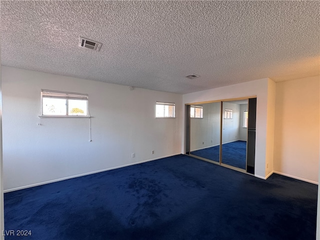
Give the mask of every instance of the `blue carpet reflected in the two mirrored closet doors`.
[[[196, 156], [219, 161], [219, 145], [191, 151]], [[246, 141], [233, 141], [222, 144], [222, 163], [245, 169]]]

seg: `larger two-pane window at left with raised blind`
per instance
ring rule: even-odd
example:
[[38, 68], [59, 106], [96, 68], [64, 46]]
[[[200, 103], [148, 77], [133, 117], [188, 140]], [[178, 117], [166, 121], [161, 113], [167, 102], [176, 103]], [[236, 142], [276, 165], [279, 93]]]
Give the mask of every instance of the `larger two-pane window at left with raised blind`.
[[88, 95], [41, 89], [41, 116], [88, 116]]

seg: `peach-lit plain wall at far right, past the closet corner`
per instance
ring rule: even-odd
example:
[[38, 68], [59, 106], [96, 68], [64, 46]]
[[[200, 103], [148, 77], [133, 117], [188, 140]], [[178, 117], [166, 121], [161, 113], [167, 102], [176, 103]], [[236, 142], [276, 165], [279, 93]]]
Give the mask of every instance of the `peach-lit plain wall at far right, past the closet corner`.
[[307, 77], [276, 83], [273, 170], [318, 182], [319, 83]]

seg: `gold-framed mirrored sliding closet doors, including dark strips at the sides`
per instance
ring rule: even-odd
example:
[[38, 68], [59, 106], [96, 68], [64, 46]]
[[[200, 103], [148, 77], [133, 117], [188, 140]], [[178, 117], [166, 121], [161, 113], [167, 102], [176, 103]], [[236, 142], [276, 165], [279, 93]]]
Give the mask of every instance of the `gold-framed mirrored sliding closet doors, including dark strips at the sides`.
[[[254, 173], [254, 102], [256, 98], [187, 104], [186, 154]], [[250, 124], [254, 125], [254, 132]]]

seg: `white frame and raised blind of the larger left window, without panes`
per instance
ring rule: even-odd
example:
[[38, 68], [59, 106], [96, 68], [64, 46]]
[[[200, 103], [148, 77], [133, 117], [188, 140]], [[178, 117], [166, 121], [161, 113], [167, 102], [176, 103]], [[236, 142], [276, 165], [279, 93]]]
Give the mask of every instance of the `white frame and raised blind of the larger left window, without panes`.
[[[65, 114], [43, 114], [43, 97], [44, 98], [56, 98], [56, 99], [64, 99], [65, 102]], [[78, 93], [78, 92], [68, 92], [68, 91], [58, 91], [58, 90], [48, 90], [41, 89], [41, 115], [39, 117], [90, 117], [88, 110], [88, 94], [87, 93]], [[69, 115], [69, 102], [68, 100], [84, 100], [86, 101], [86, 115]]]

